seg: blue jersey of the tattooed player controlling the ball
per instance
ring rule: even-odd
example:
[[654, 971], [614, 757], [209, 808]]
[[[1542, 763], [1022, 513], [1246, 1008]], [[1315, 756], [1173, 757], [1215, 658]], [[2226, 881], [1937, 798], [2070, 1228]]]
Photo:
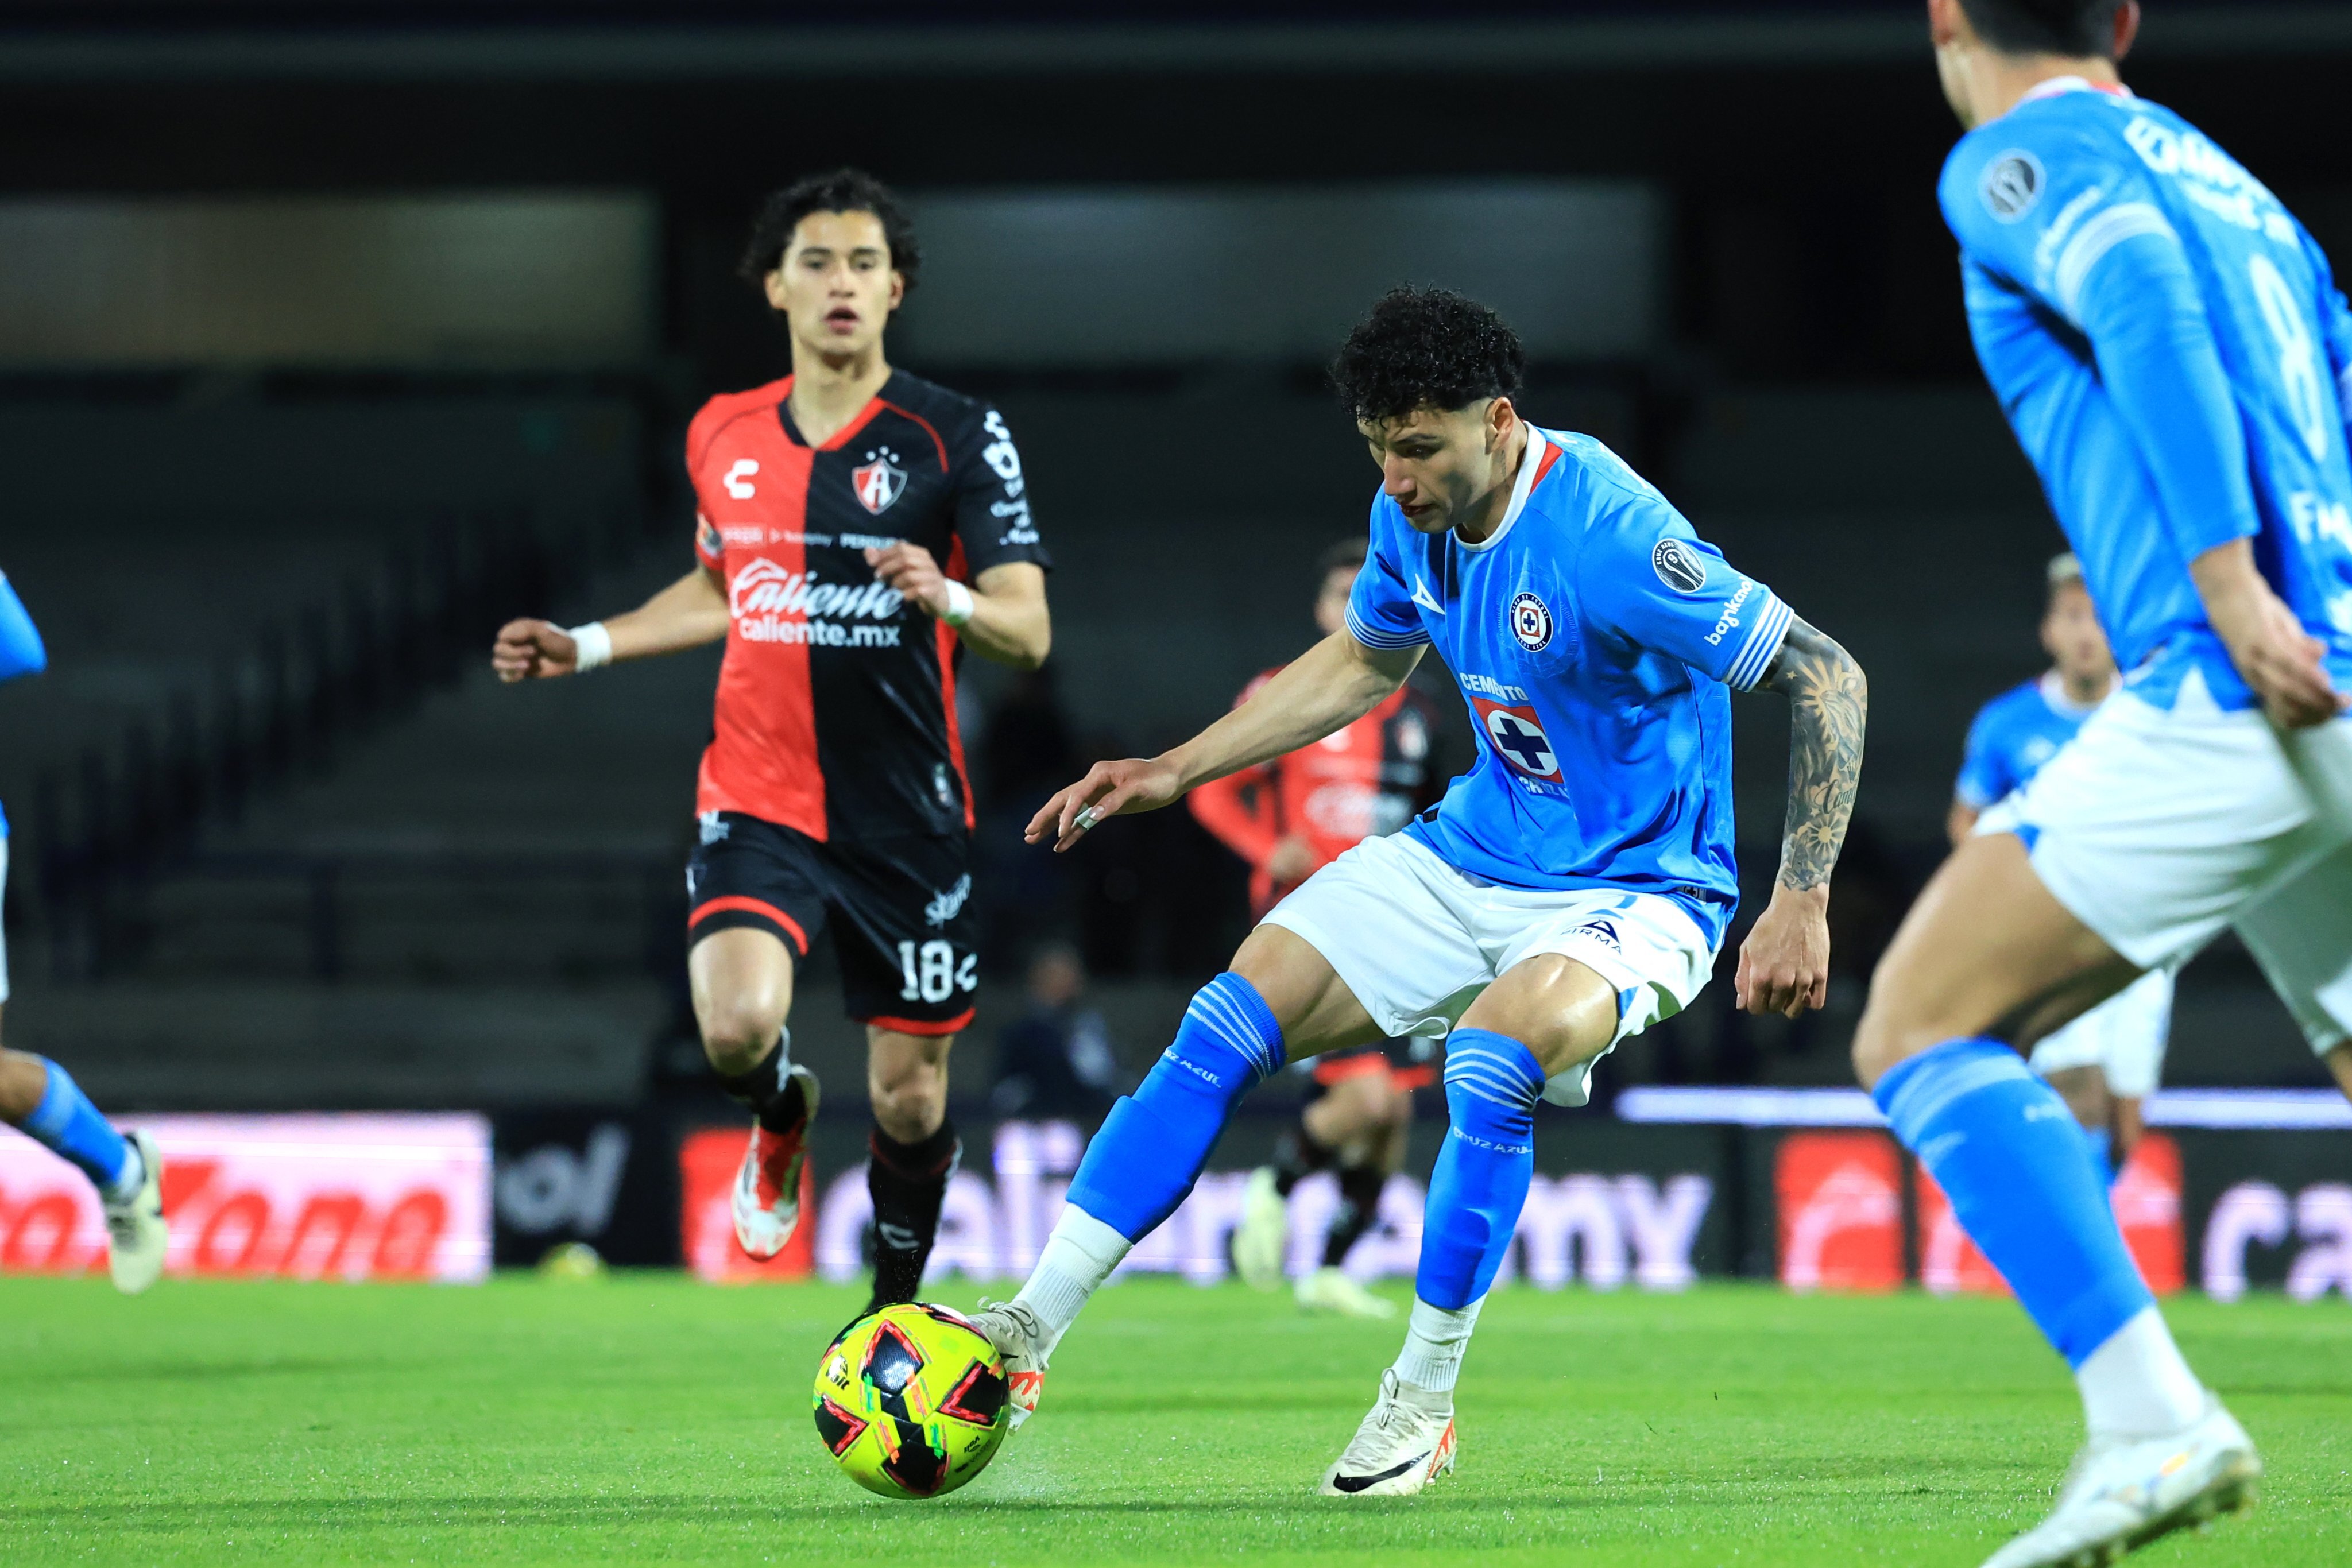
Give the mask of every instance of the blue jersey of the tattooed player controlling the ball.
[[1613, 451], [1557, 430], [1529, 433], [1484, 543], [1378, 496], [1348, 599], [1357, 642], [1437, 649], [1479, 738], [1409, 835], [1503, 886], [1675, 898], [1712, 943], [1738, 907], [1724, 689], [1764, 679], [1788, 625]]

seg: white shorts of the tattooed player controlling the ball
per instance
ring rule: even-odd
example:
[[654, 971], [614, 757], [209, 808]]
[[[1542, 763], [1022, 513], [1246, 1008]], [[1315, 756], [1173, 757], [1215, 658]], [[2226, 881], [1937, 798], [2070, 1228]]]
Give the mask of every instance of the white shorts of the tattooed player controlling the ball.
[[[1715, 973], [1712, 943], [1672, 898], [1494, 886], [1402, 832], [1364, 839], [1308, 877], [1265, 924], [1305, 938], [1392, 1039], [1449, 1032], [1503, 971], [1557, 952], [1616, 987], [1613, 1051], [1686, 1009]], [[1590, 1100], [1592, 1063], [1552, 1077], [1543, 1098]]]

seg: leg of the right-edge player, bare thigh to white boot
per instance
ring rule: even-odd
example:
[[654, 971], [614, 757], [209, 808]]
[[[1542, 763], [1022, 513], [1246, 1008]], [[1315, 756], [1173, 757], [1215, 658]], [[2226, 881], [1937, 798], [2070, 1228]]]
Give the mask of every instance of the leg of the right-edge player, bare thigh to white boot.
[[[2077, 1001], [2124, 966], [2067, 914], [2011, 835], [1945, 863], [1889, 947], [1853, 1058], [2018, 1305], [2074, 1368], [2089, 1443], [2051, 1516], [1987, 1568], [2105, 1563], [2244, 1507], [2260, 1458], [2197, 1380], [2117, 1229], [2072, 1114], [2018, 1053], [1952, 1023]], [[2105, 980], [2100, 980], [2105, 976]]]

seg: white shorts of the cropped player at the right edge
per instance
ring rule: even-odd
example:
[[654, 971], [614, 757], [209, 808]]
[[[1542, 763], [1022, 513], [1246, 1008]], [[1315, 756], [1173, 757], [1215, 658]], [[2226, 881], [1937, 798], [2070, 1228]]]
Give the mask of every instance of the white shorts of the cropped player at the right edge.
[[2190, 677], [2107, 698], [1978, 832], [2025, 839], [2051, 896], [2140, 969], [2234, 924], [2317, 1051], [2352, 1025], [2352, 719], [2281, 733]]

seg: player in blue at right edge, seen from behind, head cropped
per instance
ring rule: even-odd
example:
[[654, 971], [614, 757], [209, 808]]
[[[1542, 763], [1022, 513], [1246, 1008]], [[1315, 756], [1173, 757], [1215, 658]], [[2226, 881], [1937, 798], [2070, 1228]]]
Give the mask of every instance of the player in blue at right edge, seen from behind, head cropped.
[[1938, 200], [1978, 360], [2124, 689], [1978, 823], [1879, 961], [1853, 1065], [2074, 1368], [2089, 1441], [1990, 1568], [2110, 1561], [2260, 1474], [2018, 1051], [2234, 924], [2352, 1025], [2352, 315], [2270, 190], [2114, 68], [2129, 0], [1931, 0]]

